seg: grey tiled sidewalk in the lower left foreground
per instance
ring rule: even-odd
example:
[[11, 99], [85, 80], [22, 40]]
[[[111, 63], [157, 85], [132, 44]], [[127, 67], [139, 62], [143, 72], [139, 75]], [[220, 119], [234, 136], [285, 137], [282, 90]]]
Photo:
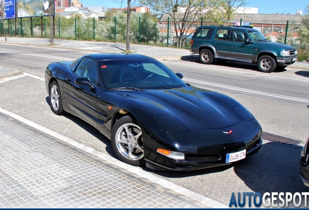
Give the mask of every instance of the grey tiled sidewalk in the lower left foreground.
[[209, 208], [4, 113], [0, 208]]

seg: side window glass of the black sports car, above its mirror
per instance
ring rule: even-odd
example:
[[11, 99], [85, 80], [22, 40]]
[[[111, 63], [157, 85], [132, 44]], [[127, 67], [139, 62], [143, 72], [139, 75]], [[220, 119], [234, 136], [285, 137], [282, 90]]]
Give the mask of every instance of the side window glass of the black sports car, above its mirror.
[[96, 63], [91, 58], [84, 58], [74, 73], [79, 77], [86, 77], [92, 85], [98, 86], [98, 72]]

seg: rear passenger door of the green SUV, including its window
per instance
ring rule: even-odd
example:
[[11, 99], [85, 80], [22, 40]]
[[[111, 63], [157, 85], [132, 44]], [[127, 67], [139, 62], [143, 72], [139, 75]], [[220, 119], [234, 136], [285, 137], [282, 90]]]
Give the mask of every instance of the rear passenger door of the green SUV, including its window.
[[218, 29], [212, 41], [212, 45], [216, 49], [217, 56], [231, 56], [230, 29]]

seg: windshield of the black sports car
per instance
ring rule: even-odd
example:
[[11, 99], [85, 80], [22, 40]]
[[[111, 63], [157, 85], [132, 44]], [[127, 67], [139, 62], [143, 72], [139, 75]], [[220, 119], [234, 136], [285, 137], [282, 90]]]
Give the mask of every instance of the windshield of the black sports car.
[[164, 89], [186, 87], [172, 70], [154, 59], [97, 61], [103, 86], [108, 89]]

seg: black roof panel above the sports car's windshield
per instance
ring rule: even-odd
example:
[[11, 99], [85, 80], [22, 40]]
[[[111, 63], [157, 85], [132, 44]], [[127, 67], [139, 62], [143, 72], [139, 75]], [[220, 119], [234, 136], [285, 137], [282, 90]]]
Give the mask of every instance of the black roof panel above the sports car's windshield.
[[146, 55], [136, 53], [97, 53], [88, 54], [85, 57], [91, 57], [92, 59], [98, 60], [119, 60], [119, 59], [154, 59]]

